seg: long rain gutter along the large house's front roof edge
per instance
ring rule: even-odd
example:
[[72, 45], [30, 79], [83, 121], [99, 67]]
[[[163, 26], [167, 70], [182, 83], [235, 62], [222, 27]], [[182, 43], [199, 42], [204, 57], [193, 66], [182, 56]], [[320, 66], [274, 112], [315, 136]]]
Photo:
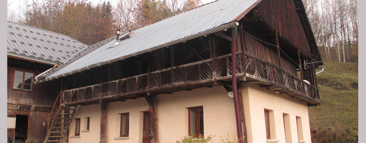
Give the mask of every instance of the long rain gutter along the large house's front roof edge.
[[59, 79], [61, 77], [66, 77], [67, 75], [73, 75], [73, 74], [76, 74], [78, 72], [85, 71], [87, 69], [91, 69], [91, 68], [95, 68], [95, 67], [101, 67], [102, 65], [105, 65], [105, 64], [112, 64], [115, 61], [125, 60], [125, 59], [127, 59], [129, 57], [137, 56], [139, 54], [143, 54], [143, 53], [147, 53], [147, 52], [152, 52], [153, 50], [160, 49], [160, 48], [164, 48], [164, 47], [168, 47], [170, 45], [178, 44], [180, 42], [186, 42], [186, 41], [188, 41], [190, 39], [194, 39], [194, 38], [198, 38], [198, 37], [202, 37], [202, 36], [207, 36], [208, 34], [212, 34], [212, 33], [218, 32], [218, 31], [222, 31], [222, 30], [227, 30], [227, 29], [229, 29], [229, 28], [231, 28], [233, 26], [239, 26], [239, 23], [236, 22], [236, 21], [234, 21], [234, 22], [230, 22], [230, 23], [227, 23], [227, 24], [223, 24], [221, 26], [217, 26], [217, 27], [214, 27], [212, 29], [205, 30], [205, 31], [202, 31], [202, 32], [199, 32], [197, 34], [193, 34], [193, 35], [190, 35], [190, 36], [187, 36], [187, 37], [182, 37], [180, 39], [177, 39], [177, 40], [174, 40], [174, 41], [171, 41], [171, 42], [167, 42], [167, 43], [164, 43], [164, 44], [155, 46], [153, 48], [149, 48], [149, 49], [146, 49], [146, 50], [142, 50], [140, 52], [131, 53], [131, 54], [128, 54], [128, 55], [123, 56], [123, 57], [119, 57], [119, 58], [116, 58], [116, 59], [112, 59], [112, 60], [104, 61], [104, 62], [101, 62], [101, 63], [89, 65], [87, 67], [80, 68], [80, 69], [77, 69], [77, 70], [74, 70], [74, 71], [70, 71], [70, 72], [67, 72], [67, 73], [64, 73], [64, 74], [61, 74], [61, 75], [53, 76], [51, 78], [41, 79], [41, 80], [36, 81], [35, 83], [43, 83], [43, 82], [46, 82], [46, 81], [50, 81], [50, 80], [54, 80], [54, 79]]

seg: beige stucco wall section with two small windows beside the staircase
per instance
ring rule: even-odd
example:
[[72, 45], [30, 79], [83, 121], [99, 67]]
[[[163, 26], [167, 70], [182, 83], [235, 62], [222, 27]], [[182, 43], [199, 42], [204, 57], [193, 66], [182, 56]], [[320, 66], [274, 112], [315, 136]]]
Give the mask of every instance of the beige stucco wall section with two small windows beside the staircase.
[[[100, 105], [85, 105], [75, 113], [74, 118], [80, 118], [80, 138], [72, 138], [75, 135], [75, 119], [72, 120], [69, 128], [69, 143], [99, 143], [100, 141]], [[85, 117], [90, 117], [89, 132], [86, 130]]]

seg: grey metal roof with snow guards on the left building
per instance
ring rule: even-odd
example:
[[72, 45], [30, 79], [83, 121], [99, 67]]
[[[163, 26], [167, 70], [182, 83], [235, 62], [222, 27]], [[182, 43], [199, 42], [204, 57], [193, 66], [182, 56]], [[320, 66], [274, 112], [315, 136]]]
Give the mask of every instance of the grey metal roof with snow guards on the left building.
[[64, 63], [87, 47], [67, 35], [11, 21], [7, 32], [8, 53], [53, 63]]

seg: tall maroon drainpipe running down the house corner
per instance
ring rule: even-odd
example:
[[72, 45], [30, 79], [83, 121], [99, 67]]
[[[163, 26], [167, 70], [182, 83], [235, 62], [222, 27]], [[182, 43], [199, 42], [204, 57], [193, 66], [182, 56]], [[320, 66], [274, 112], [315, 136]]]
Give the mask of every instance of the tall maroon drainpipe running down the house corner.
[[240, 124], [240, 112], [238, 101], [238, 90], [236, 89], [236, 31], [238, 27], [232, 27], [232, 43], [231, 43], [231, 77], [232, 77], [232, 91], [234, 93], [234, 106], [236, 117], [236, 130], [238, 132], [239, 143], [243, 143], [242, 126]]

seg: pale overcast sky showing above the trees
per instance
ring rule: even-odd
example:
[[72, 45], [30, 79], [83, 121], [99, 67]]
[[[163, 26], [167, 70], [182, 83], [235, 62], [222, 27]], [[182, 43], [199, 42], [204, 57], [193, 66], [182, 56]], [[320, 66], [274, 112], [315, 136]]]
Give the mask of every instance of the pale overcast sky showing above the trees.
[[[29, 4], [32, 3], [32, 0], [8, 0], [8, 4], [10, 3], [8, 9], [18, 14], [19, 6], [25, 7], [26, 1], [28, 1]], [[34, 0], [34, 1], [42, 1], [42, 0]], [[117, 0], [87, 0], [87, 1], [90, 1], [93, 5], [96, 5], [97, 3], [102, 3], [103, 1], [111, 1], [112, 5], [117, 3]], [[203, 4], [206, 4], [214, 0], [201, 0], [201, 1]]]

